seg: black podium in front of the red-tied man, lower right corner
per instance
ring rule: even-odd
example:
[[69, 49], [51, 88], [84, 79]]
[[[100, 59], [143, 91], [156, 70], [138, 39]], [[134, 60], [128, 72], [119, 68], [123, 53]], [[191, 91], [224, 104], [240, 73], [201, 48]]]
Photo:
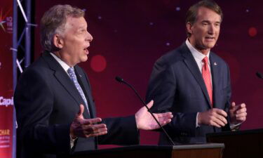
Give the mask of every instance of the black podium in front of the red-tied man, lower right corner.
[[224, 143], [223, 158], [262, 158], [263, 129], [208, 133], [209, 143]]

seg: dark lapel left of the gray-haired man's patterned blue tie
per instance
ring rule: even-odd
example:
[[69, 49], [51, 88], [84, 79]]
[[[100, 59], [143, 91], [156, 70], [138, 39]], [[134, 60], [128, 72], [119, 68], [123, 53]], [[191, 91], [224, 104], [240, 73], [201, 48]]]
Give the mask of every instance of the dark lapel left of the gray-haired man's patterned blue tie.
[[[81, 98], [81, 95], [79, 94], [79, 91], [76, 89], [76, 86], [72, 82], [72, 80], [69, 78], [69, 75], [61, 65], [55, 60], [49, 53], [43, 53], [43, 59], [48, 62], [48, 65], [50, 66], [50, 69], [54, 70], [54, 76], [60, 84], [65, 88], [65, 90], [72, 96], [72, 98], [76, 101], [77, 105], [85, 104], [83, 99]], [[83, 113], [85, 118], [88, 118], [88, 111], [84, 110]]]

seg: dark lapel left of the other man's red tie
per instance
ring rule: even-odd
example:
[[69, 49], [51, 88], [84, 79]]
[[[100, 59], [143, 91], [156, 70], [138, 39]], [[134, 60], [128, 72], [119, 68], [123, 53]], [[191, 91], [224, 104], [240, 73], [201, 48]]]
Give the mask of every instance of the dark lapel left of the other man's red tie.
[[[198, 65], [196, 63], [196, 60], [194, 60], [194, 56], [191, 54], [191, 51], [189, 48], [187, 48], [186, 44], [183, 44], [181, 46], [181, 52], [182, 55], [184, 56], [184, 63], [187, 65], [189, 68], [191, 74], [193, 74], [194, 78], [198, 82], [199, 86], [201, 87], [203, 91], [203, 95], [205, 96], [205, 99], [208, 101], [208, 105], [211, 105], [210, 103], [210, 98], [208, 96], [208, 91], [205, 86], [205, 82], [203, 81], [202, 74], [200, 70], [198, 69]], [[210, 107], [210, 106], [209, 106]]]

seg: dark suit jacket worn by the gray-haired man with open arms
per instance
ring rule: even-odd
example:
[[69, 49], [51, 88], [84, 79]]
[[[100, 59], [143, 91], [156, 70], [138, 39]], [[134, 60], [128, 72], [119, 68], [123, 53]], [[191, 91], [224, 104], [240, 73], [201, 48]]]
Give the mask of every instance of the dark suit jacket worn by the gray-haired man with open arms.
[[[90, 114], [96, 117], [86, 73], [74, 67], [88, 101]], [[84, 101], [61, 65], [49, 54], [27, 67], [15, 89], [18, 121], [18, 157], [64, 157], [70, 153], [94, 150], [97, 143], [130, 145], [139, 143], [135, 117], [103, 119], [108, 134], [98, 138], [78, 138], [70, 148], [69, 127]]]

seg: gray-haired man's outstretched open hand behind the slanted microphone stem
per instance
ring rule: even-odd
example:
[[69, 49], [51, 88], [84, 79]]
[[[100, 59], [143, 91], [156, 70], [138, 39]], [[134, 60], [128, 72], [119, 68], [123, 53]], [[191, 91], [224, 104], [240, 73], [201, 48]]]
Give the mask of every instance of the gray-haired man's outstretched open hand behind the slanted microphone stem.
[[[154, 105], [154, 100], [151, 100], [147, 107], [151, 108]], [[159, 121], [161, 126], [168, 124], [171, 119], [173, 118], [172, 112], [154, 114], [156, 119]], [[135, 114], [137, 129], [144, 129], [144, 130], [153, 130], [159, 129], [160, 126], [156, 123], [155, 119], [151, 116], [151, 113], [148, 112], [146, 107], [140, 108], [139, 111]]]

